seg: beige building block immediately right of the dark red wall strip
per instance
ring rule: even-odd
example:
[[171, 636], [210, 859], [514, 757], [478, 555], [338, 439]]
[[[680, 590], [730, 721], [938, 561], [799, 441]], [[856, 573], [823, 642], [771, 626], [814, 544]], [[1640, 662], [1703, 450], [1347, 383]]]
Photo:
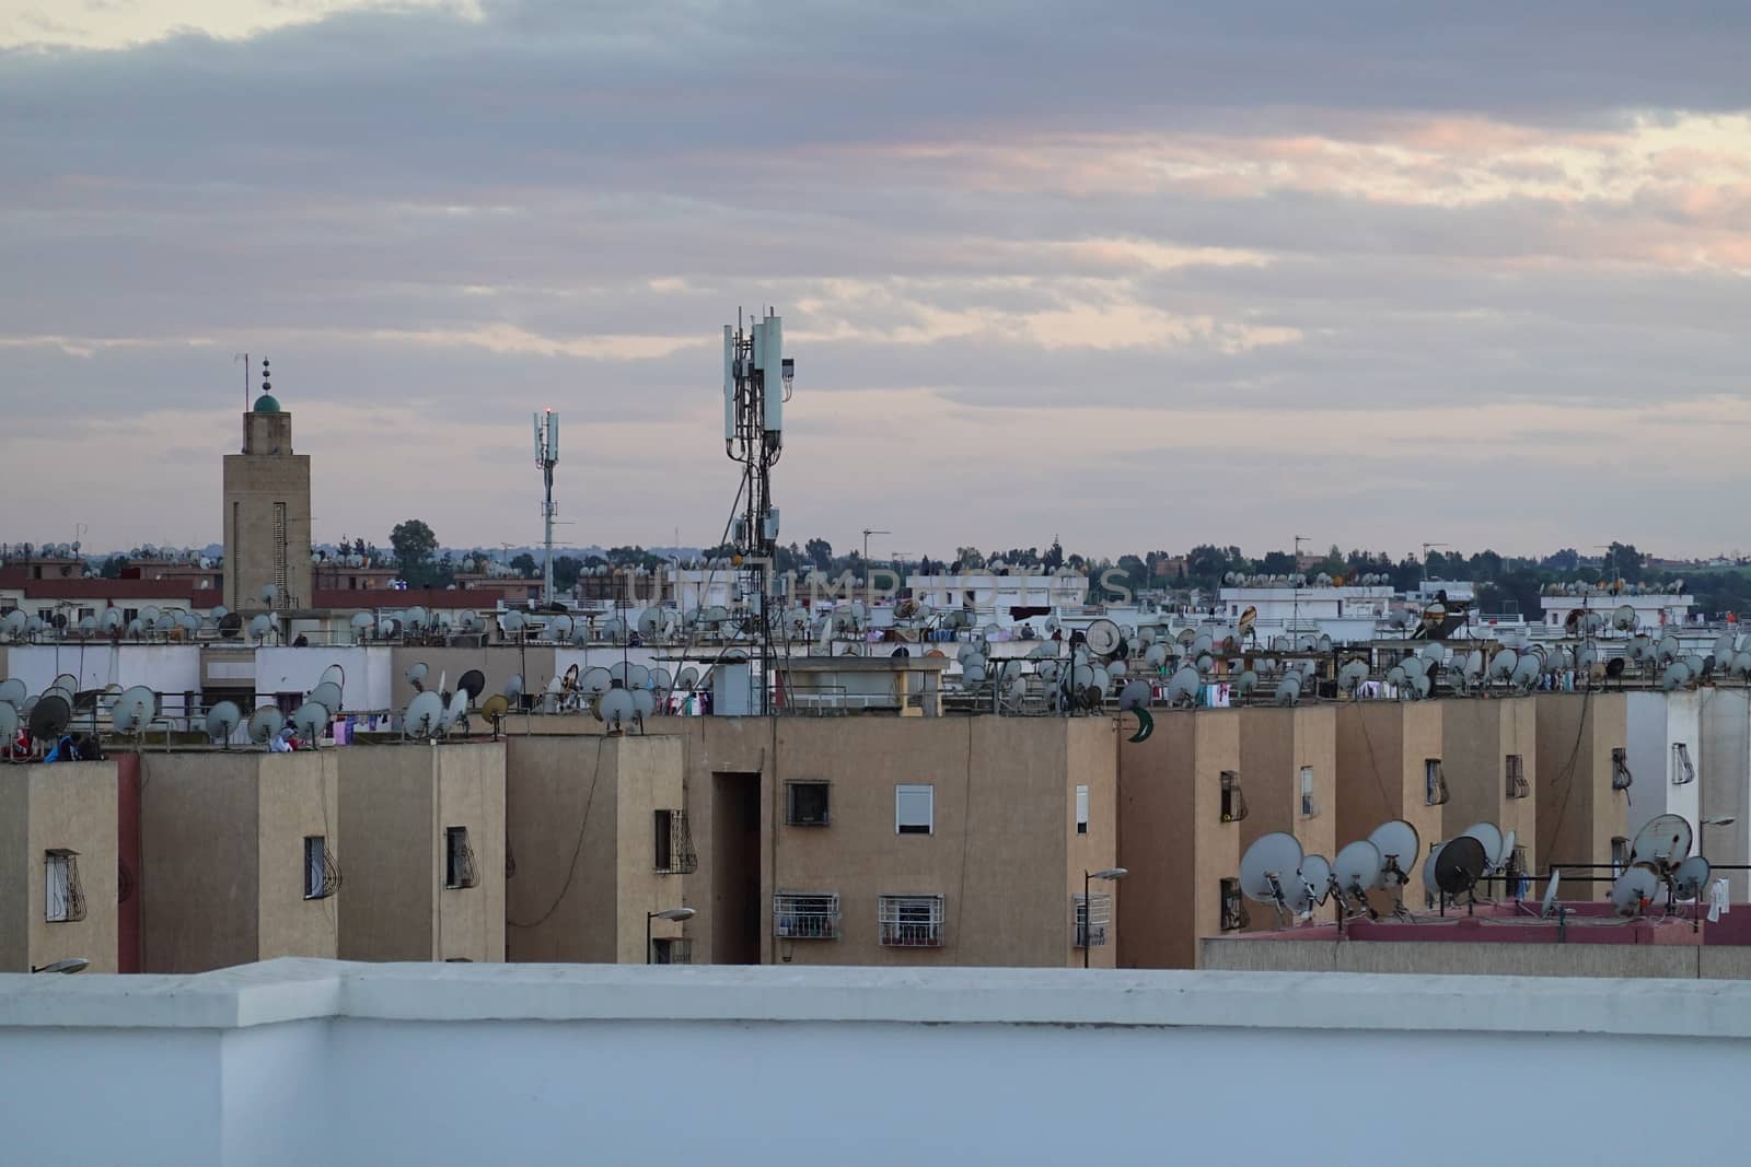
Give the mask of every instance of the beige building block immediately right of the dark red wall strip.
[[340, 751], [140, 754], [140, 971], [340, 954], [338, 772]]

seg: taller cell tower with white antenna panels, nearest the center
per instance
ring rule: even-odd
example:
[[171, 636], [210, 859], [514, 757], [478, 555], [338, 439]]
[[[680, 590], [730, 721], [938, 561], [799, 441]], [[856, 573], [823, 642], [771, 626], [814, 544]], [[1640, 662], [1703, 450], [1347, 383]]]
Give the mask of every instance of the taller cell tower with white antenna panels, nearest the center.
[[742, 329], [723, 325], [723, 451], [742, 464], [742, 513], [730, 542], [741, 556], [742, 593], [755, 616], [758, 660], [758, 712], [770, 703], [772, 619], [769, 609], [772, 551], [777, 546], [777, 507], [772, 506], [772, 465], [784, 450], [784, 402], [790, 401], [795, 362], [784, 359], [784, 325], [770, 311]]

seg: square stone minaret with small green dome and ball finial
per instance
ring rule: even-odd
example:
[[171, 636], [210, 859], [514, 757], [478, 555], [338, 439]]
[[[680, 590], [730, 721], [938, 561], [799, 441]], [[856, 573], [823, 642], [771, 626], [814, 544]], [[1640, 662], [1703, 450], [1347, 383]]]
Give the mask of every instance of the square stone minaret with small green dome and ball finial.
[[292, 453], [292, 415], [270, 376], [263, 360], [261, 397], [243, 415], [243, 453], [224, 458], [224, 604], [242, 614], [312, 602], [310, 455]]

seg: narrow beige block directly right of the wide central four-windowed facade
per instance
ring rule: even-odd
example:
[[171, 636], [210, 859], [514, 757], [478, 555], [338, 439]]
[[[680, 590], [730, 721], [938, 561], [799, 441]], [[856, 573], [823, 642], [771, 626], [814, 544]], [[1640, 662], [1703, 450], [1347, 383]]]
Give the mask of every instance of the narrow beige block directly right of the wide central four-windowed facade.
[[1157, 710], [1147, 742], [1119, 745], [1121, 968], [1196, 968], [1198, 938], [1241, 926], [1240, 833], [1248, 817], [1241, 710]]

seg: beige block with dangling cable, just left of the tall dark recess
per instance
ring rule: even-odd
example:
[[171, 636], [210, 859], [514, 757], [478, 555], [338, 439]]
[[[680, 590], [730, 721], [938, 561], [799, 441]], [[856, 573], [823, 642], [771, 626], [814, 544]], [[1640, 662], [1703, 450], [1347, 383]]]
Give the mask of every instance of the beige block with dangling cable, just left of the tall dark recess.
[[683, 738], [510, 737], [504, 749], [506, 959], [688, 962], [683, 926], [650, 919], [686, 906], [697, 868]]

